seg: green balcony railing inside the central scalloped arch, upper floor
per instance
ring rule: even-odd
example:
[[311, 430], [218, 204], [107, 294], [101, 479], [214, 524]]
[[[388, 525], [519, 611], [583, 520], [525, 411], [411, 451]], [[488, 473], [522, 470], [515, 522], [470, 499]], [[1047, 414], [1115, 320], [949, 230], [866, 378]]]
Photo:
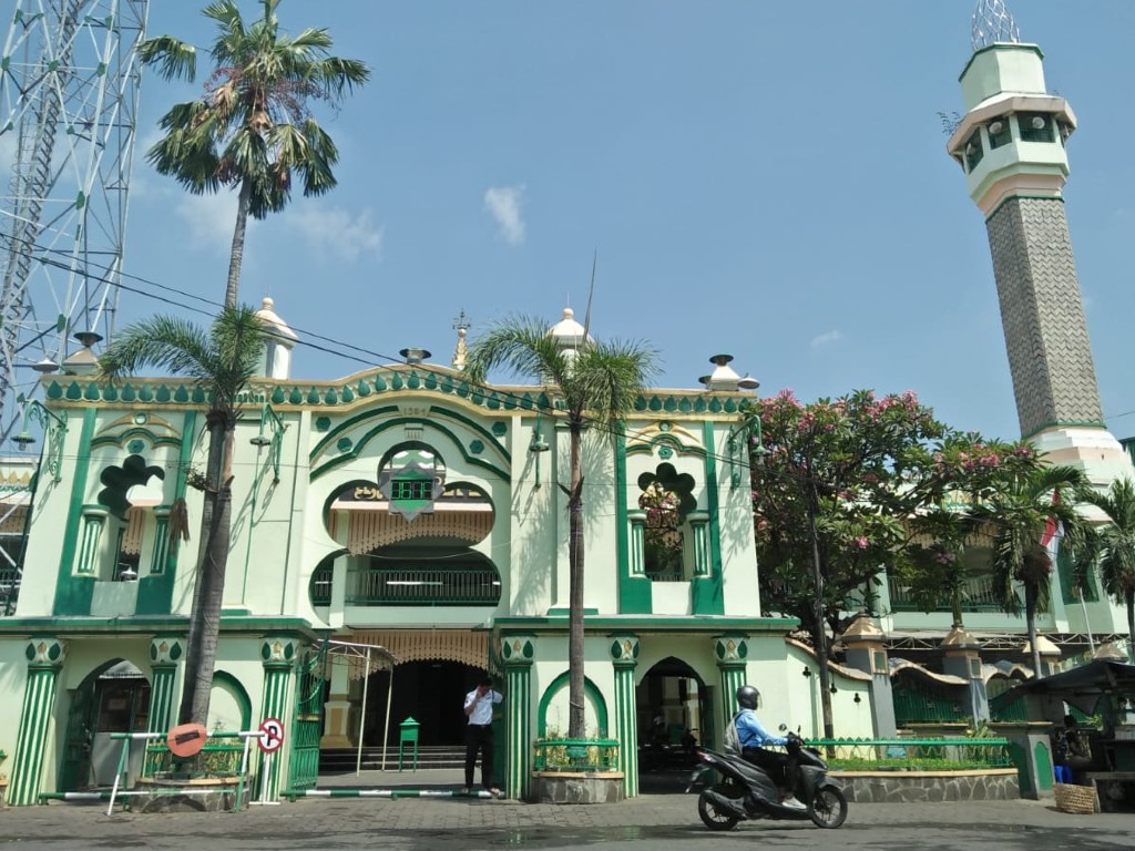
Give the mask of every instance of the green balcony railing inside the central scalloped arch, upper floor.
[[348, 606], [495, 606], [501, 574], [494, 567], [362, 566], [347, 571]]

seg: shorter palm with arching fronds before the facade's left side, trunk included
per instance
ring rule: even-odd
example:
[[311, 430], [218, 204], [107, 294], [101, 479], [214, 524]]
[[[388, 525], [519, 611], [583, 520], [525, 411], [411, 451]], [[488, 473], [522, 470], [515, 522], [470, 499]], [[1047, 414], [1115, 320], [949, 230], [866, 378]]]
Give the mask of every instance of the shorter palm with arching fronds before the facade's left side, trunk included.
[[155, 317], [137, 322], [119, 332], [99, 359], [102, 376], [111, 381], [151, 366], [185, 376], [209, 393], [209, 456], [185, 656], [186, 683], [178, 711], [182, 723], [204, 724], [209, 718], [228, 562], [238, 398], [255, 376], [263, 349], [264, 326], [252, 309], [225, 307], [208, 331], [179, 318]]

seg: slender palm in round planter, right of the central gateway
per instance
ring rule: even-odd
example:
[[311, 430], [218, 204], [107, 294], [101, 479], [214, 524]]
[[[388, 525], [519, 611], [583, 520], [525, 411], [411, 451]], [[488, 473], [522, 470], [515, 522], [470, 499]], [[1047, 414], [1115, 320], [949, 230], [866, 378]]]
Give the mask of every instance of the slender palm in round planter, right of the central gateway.
[[640, 343], [596, 343], [580, 337], [578, 347], [565, 347], [535, 318], [515, 317], [490, 328], [473, 343], [465, 377], [484, 384], [488, 373], [504, 368], [554, 386], [552, 413], [568, 423], [570, 483], [568, 495], [568, 573], [570, 584], [568, 631], [568, 736], [582, 739], [583, 713], [583, 472], [580, 453], [589, 424], [620, 433], [622, 420], [633, 410], [645, 385], [656, 372], [657, 352]]

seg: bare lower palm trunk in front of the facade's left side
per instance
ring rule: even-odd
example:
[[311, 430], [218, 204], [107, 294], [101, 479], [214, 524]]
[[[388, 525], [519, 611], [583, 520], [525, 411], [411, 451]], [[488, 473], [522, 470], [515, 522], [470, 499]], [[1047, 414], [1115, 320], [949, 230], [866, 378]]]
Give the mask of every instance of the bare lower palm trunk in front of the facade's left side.
[[201, 514], [201, 557], [190, 612], [190, 634], [185, 652], [185, 683], [178, 719], [185, 724], [205, 724], [217, 662], [217, 633], [225, 593], [225, 563], [228, 556], [228, 524], [232, 494], [228, 487], [235, 430], [226, 428], [226, 418], [210, 412], [209, 461], [205, 466], [204, 509]]

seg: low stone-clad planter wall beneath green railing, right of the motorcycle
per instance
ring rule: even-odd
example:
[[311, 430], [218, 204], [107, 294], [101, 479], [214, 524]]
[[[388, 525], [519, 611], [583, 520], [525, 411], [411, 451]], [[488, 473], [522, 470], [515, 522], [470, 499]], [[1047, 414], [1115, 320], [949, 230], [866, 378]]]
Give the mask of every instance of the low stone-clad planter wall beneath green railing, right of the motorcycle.
[[832, 772], [851, 803], [1012, 801], [1020, 798], [1016, 768], [974, 772]]

